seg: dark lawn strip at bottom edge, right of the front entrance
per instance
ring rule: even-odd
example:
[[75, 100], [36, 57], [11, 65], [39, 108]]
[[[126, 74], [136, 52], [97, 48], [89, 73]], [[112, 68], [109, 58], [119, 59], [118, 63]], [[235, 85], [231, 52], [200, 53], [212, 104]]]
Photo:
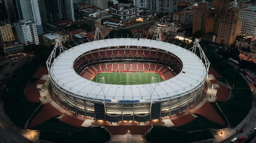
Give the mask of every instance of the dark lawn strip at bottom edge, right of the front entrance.
[[146, 140], [150, 143], [191, 143], [213, 138], [214, 136], [209, 130], [187, 134], [182, 130], [164, 126], [154, 126], [146, 136]]

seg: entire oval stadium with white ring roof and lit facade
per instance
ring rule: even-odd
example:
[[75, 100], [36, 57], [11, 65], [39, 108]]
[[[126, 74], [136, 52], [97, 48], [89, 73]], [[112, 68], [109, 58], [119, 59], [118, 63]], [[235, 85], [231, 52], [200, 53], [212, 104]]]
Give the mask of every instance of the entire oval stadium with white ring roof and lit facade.
[[94, 38], [69, 49], [58, 41], [47, 60], [52, 91], [69, 111], [98, 122], [179, 115], [195, 106], [208, 75], [198, 42], [187, 50], [141, 38]]

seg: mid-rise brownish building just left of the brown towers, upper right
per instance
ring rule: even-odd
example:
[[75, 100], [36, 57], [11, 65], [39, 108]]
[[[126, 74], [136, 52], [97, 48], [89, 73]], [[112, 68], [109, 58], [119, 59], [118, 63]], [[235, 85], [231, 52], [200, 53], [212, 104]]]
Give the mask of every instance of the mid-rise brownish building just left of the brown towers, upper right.
[[194, 9], [184, 9], [183, 11], [173, 13], [173, 21], [192, 25]]

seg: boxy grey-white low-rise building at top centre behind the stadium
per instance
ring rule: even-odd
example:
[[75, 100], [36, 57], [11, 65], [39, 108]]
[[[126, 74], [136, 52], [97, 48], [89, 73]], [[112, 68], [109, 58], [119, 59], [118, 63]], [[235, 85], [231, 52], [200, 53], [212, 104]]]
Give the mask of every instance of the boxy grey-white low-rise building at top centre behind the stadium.
[[112, 8], [113, 18], [117, 20], [132, 21], [136, 20], [136, 17], [139, 15], [138, 7], [130, 7], [129, 5], [119, 4], [118, 8]]

